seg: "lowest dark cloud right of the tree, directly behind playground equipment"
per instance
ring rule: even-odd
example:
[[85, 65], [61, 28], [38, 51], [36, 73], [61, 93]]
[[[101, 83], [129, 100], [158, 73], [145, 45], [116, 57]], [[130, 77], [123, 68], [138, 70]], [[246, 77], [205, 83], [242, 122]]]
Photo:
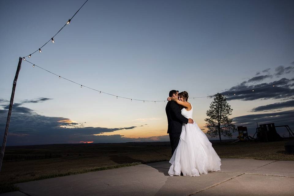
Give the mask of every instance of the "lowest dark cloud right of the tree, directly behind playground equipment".
[[[253, 136], [256, 132], [256, 123], [266, 124], [275, 123], [276, 126], [288, 125], [292, 130], [294, 128], [294, 110], [273, 112], [273, 113], [262, 113], [262, 114], [251, 114], [233, 117], [233, 123], [236, 126], [247, 126], [248, 134]], [[277, 133], [282, 136], [282, 133], [288, 134], [286, 128], [277, 128]], [[234, 134], [236, 137], [236, 133]], [[256, 137], [256, 135], [255, 135]]]

